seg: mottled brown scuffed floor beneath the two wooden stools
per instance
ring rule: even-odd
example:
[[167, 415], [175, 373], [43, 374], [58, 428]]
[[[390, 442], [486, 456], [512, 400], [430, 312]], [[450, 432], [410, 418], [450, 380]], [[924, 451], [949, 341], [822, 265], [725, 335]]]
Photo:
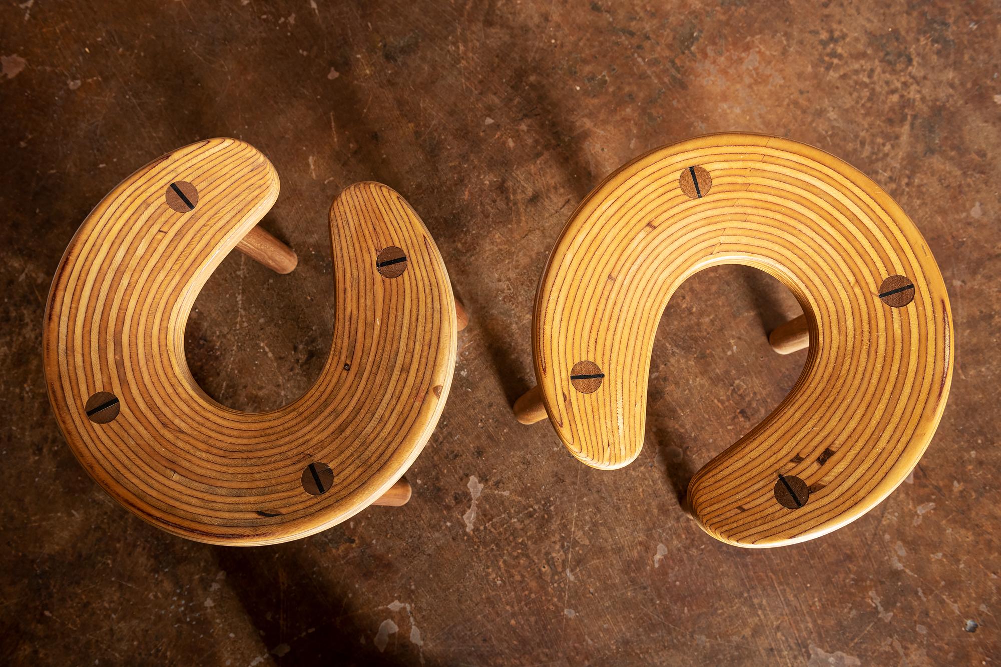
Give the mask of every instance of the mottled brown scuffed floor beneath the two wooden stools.
[[[997, 664], [998, 13], [5, 0], [0, 662]], [[643, 151], [731, 129], [875, 178], [928, 239], [956, 323], [949, 406], [912, 479], [843, 530], [766, 551], [712, 540], [677, 502], [802, 368], [805, 353], [767, 347], [798, 306], [764, 273], [708, 270], [672, 300], [627, 469], [588, 469], [510, 411], [533, 382], [536, 282], [577, 202]], [[274, 162], [263, 224], [300, 257], [277, 276], [234, 253], [198, 298], [187, 354], [228, 406], [274, 408], [318, 376], [342, 187], [391, 185], [437, 239], [471, 323], [406, 507], [292, 544], [205, 546], [118, 507], [63, 441], [41, 371], [60, 254], [120, 179], [215, 135]]]

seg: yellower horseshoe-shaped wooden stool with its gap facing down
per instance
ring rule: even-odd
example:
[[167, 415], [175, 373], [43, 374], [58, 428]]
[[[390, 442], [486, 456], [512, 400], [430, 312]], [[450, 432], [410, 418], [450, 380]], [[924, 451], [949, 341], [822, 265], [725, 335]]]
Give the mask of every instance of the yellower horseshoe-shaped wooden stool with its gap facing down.
[[693, 273], [740, 263], [780, 279], [804, 314], [777, 352], [809, 354], [796, 387], [689, 485], [692, 515], [744, 547], [802, 542], [857, 519], [918, 463], [952, 378], [938, 266], [900, 206], [811, 146], [716, 134], [654, 150], [578, 207], [550, 256], [533, 321], [539, 386], [579, 460], [626, 466], [643, 447], [654, 336]]

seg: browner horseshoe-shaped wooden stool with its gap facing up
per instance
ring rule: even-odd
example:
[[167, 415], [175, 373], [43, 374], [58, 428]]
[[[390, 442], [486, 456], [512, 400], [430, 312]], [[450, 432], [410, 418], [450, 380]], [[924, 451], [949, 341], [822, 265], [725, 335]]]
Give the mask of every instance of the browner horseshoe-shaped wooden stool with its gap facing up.
[[201, 391], [184, 326], [208, 276], [234, 247], [295, 267], [254, 226], [277, 196], [274, 167], [242, 141], [179, 148], [94, 208], [49, 292], [45, 377], [73, 452], [128, 510], [199, 542], [284, 542], [406, 503], [401, 476], [451, 386], [459, 306], [444, 262], [406, 201], [367, 182], [330, 207], [336, 314], [315, 385], [259, 414]]

